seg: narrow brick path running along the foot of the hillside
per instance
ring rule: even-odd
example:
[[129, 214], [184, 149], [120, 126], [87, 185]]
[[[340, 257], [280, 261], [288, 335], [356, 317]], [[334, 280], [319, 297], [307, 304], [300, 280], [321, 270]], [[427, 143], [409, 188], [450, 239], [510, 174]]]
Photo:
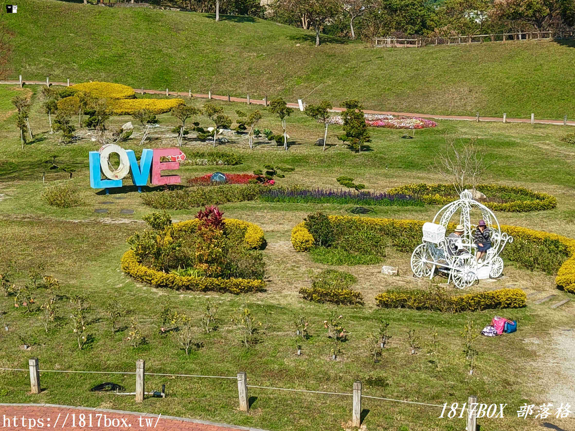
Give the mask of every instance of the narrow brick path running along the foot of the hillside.
[[[45, 81], [24, 81], [24, 83], [34, 85], [34, 84], [45, 84], [46, 82]], [[20, 81], [5, 80], [5, 81], [0, 81], [0, 84], [18, 84], [19, 85]], [[67, 82], [50, 82], [50, 84], [66, 86], [68, 83]], [[72, 85], [72, 83], [70, 83], [70, 85]], [[141, 88], [134, 88], [134, 91], [136, 93], [142, 93]], [[144, 93], [148, 93], [148, 94], [166, 94], [166, 90], [146, 90], [144, 88], [143, 91], [144, 91]], [[170, 96], [182, 96], [182, 97], [189, 96], [189, 92], [186, 93], [185, 91], [168, 91], [168, 94]], [[193, 97], [198, 97], [198, 98], [202, 98], [202, 99], [208, 98], [208, 94], [191, 93], [191, 95]], [[222, 100], [222, 101], [228, 100], [228, 96], [218, 96], [215, 94], [212, 94], [211, 96], [212, 96], [212, 99], [214, 99], [214, 100]], [[244, 99], [241, 97], [230, 97], [229, 101], [230, 102], [247, 103], [247, 98]], [[259, 99], [250, 99], [250, 103], [253, 103], [254, 105], [263, 105], [264, 101], [259, 100]], [[297, 103], [287, 103], [287, 106], [299, 109], [299, 105]], [[344, 110], [345, 110], [345, 108], [342, 108], [342, 107], [334, 107], [331, 111], [332, 112], [342, 112]], [[467, 117], [467, 116], [440, 116], [440, 115], [435, 115], [435, 114], [417, 114], [417, 113], [411, 113], [411, 112], [371, 111], [369, 109], [364, 109], [363, 112], [365, 112], [366, 114], [388, 114], [388, 115], [393, 115], [393, 116], [433, 118], [434, 120], [477, 121], [477, 117]], [[501, 121], [503, 121], [503, 117], [479, 117], [479, 121], [501, 122]], [[531, 123], [531, 118], [507, 118], [505, 121], [507, 121], [508, 123]], [[537, 124], [563, 125], [563, 120], [537, 120], [535, 118], [534, 122]], [[569, 120], [567, 122], [567, 125], [568, 126], [575, 126], [575, 121]]]

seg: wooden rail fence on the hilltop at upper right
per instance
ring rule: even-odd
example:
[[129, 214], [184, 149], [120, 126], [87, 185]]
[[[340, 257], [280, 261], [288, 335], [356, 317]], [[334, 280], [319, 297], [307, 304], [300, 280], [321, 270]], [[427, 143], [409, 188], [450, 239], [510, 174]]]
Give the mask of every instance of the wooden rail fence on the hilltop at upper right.
[[516, 40], [574, 39], [575, 31], [568, 32], [518, 32], [497, 34], [472, 34], [469, 36], [415, 37], [398, 39], [397, 37], [376, 37], [374, 48], [422, 48], [437, 45], [469, 45], [485, 42], [506, 42]]

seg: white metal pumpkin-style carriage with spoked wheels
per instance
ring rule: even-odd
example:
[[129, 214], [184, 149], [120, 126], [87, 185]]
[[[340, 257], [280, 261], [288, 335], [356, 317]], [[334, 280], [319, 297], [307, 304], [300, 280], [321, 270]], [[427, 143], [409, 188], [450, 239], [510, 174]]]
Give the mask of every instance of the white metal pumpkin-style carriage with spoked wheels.
[[[475, 258], [477, 245], [473, 242], [473, 232], [477, 226], [471, 224], [472, 208], [481, 211], [482, 220], [491, 230], [491, 248], [480, 263]], [[458, 211], [459, 224], [463, 225], [465, 231], [459, 238], [446, 238], [447, 225]], [[423, 225], [423, 240], [411, 255], [411, 270], [416, 277], [428, 276], [432, 279], [437, 269], [448, 274], [447, 283], [453, 281], [455, 287], [463, 289], [478, 279], [499, 277], [503, 272], [503, 259], [499, 255], [505, 245], [512, 242], [512, 236], [501, 232], [492, 211], [474, 201], [469, 190], [464, 190], [457, 201], [448, 203], [435, 214], [431, 223]], [[457, 252], [453, 244], [457, 245]]]

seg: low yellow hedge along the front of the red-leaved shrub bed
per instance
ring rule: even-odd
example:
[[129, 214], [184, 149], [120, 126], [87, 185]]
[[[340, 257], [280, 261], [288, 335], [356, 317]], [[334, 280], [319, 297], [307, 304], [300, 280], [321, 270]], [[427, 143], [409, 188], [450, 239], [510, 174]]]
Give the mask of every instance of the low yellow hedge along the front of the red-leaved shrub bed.
[[166, 274], [162, 271], [152, 270], [140, 264], [136, 253], [128, 250], [120, 260], [122, 271], [136, 280], [151, 284], [155, 287], [168, 287], [175, 290], [193, 290], [197, 292], [216, 291], [221, 293], [247, 293], [260, 292], [266, 286], [263, 280], [250, 280], [243, 278], [210, 278], [179, 276]]

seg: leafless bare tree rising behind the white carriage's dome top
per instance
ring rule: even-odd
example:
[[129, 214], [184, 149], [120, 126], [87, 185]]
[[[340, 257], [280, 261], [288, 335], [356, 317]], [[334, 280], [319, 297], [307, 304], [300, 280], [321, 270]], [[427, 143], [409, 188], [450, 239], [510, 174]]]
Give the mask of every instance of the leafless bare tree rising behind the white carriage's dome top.
[[485, 147], [477, 144], [477, 138], [464, 141], [445, 136], [445, 145], [436, 152], [431, 170], [453, 184], [457, 193], [471, 185], [475, 190], [485, 171], [493, 163], [485, 161]]

